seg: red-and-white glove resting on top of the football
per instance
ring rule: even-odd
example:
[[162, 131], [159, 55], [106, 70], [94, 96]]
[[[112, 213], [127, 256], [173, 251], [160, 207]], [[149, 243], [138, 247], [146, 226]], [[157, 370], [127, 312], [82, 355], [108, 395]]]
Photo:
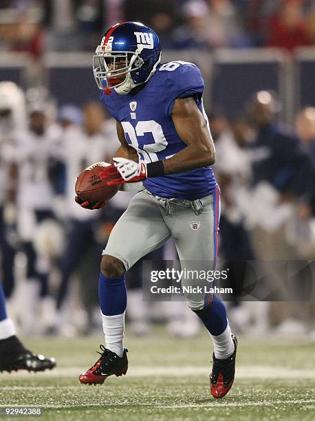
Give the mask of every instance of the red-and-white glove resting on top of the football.
[[122, 183], [135, 183], [147, 178], [146, 163], [127, 160], [126, 158], [113, 158], [113, 165], [105, 166], [99, 171], [102, 180], [111, 179], [109, 186]]

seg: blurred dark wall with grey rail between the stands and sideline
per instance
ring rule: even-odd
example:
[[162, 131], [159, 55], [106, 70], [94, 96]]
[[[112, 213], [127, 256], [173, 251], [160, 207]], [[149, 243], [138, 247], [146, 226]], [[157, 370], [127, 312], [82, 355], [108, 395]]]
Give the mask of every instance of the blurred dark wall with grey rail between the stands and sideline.
[[[206, 108], [217, 105], [228, 116], [241, 114], [247, 100], [260, 89], [273, 89], [279, 94], [281, 120], [289, 124], [299, 107], [315, 105], [314, 47], [300, 48], [293, 56], [273, 48], [219, 49], [213, 54], [197, 50], [163, 52], [162, 61], [176, 60], [200, 67], [206, 85]], [[37, 69], [37, 74], [25, 54], [1, 52], [0, 63], [0, 81], [13, 80], [23, 87], [47, 85], [60, 105], [83, 105], [98, 98], [91, 54], [47, 53], [43, 57], [45, 72]]]

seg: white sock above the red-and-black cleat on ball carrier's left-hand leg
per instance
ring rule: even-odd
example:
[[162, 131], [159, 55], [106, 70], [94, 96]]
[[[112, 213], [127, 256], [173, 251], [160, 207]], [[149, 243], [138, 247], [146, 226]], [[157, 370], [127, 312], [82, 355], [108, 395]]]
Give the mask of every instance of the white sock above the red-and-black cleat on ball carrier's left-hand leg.
[[105, 346], [121, 358], [124, 354], [124, 312], [115, 316], [102, 316], [102, 330], [105, 335]]

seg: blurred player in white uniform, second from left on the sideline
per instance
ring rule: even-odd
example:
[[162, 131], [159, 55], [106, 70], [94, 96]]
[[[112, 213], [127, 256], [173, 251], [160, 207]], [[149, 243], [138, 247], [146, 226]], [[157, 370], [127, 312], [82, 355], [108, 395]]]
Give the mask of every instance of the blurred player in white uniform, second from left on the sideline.
[[50, 261], [44, 250], [34, 248], [34, 237], [45, 222], [54, 219], [54, 188], [48, 169], [57, 139], [58, 131], [49, 122], [48, 102], [41, 98], [30, 102], [28, 129], [17, 137], [17, 227], [27, 263], [21, 290], [23, 297], [28, 297], [21, 327], [27, 334], [38, 332], [43, 322], [39, 314], [43, 316], [45, 307], [51, 305]]

